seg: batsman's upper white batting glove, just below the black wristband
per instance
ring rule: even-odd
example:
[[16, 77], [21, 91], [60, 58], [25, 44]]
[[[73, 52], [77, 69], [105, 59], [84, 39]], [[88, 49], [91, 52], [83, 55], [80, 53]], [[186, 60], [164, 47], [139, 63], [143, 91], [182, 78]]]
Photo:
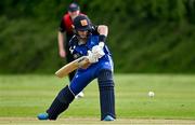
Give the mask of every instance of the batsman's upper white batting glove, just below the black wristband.
[[96, 58], [102, 58], [105, 55], [104, 53], [104, 42], [100, 42], [99, 45], [92, 47], [92, 53]]

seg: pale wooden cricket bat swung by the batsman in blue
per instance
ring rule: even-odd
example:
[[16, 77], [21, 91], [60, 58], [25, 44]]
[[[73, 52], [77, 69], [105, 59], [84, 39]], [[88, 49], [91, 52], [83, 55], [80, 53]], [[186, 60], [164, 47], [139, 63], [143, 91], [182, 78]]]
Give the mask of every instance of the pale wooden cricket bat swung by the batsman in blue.
[[86, 65], [90, 64], [88, 56], [82, 56], [80, 58], [77, 58], [76, 60], [65, 65], [64, 67], [62, 67], [61, 69], [58, 69], [55, 72], [55, 75], [58, 78], [64, 78], [66, 77], [68, 73], [73, 72], [74, 70], [80, 68], [80, 67], [84, 67]]

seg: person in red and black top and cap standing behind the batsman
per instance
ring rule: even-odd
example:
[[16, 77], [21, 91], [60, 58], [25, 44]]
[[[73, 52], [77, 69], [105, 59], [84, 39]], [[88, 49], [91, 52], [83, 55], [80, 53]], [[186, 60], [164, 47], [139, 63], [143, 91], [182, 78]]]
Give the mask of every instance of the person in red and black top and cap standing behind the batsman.
[[[74, 27], [73, 27], [73, 20], [78, 15], [83, 15], [80, 13], [80, 8], [77, 3], [73, 2], [68, 6], [68, 12], [64, 14], [60, 28], [58, 28], [58, 54], [62, 58], [66, 58], [66, 63], [70, 63], [74, 60], [73, 55], [69, 52], [69, 40], [74, 36]], [[68, 74], [69, 81], [73, 80], [75, 75], [75, 71]], [[76, 98], [83, 97], [83, 92], [80, 92]]]

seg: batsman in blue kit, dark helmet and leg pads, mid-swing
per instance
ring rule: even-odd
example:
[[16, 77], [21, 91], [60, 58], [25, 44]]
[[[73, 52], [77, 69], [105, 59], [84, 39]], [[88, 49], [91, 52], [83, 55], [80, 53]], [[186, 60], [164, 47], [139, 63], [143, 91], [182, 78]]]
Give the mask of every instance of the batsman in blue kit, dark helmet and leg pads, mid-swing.
[[75, 59], [88, 56], [89, 64], [79, 67], [69, 85], [65, 86], [39, 120], [56, 120], [68, 109], [75, 99], [91, 81], [98, 79], [100, 91], [101, 121], [115, 121], [115, 84], [113, 79], [113, 59], [105, 40], [108, 28], [104, 25], [94, 26], [84, 15], [74, 19], [75, 36], [69, 42]]

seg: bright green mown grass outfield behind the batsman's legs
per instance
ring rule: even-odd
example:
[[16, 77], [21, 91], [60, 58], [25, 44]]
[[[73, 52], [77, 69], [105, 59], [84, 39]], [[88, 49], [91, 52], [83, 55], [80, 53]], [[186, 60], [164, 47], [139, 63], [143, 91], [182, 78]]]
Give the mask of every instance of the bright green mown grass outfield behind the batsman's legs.
[[[54, 75], [0, 75], [0, 121], [8, 117], [34, 120], [67, 83], [67, 79]], [[115, 83], [118, 121], [195, 121], [195, 75], [116, 74]], [[150, 91], [155, 92], [154, 98], [147, 96]], [[96, 81], [87, 86], [84, 98], [76, 99], [60, 121], [73, 117], [99, 121]]]

